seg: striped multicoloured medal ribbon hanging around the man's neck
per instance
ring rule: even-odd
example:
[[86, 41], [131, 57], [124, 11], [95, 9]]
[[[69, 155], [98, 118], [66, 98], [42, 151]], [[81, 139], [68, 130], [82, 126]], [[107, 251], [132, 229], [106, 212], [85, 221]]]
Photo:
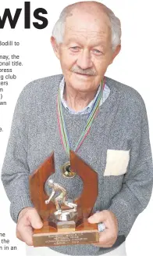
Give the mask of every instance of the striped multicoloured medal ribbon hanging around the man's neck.
[[[75, 147], [74, 151], [76, 151], [76, 152], [77, 152], [77, 150], [79, 150], [80, 146], [84, 142], [84, 139], [87, 137], [88, 133], [90, 132], [91, 124], [94, 121], [94, 118], [96, 117], [96, 115], [98, 114], [98, 108], [99, 108], [99, 104], [101, 101], [101, 96], [102, 96], [104, 87], [105, 87], [105, 78], [104, 78], [104, 80], [101, 81], [101, 90], [98, 94], [97, 99], [95, 100], [95, 103], [91, 110], [91, 113], [89, 114], [89, 117], [87, 118], [87, 124], [84, 127], [84, 131], [81, 133], [80, 139], [78, 140], [77, 145]], [[69, 139], [68, 139], [68, 135], [66, 132], [66, 124], [64, 121], [64, 116], [62, 113], [62, 101], [61, 101], [61, 96], [60, 96], [60, 89], [59, 89], [58, 99], [57, 99], [57, 110], [58, 110], [59, 132], [60, 132], [60, 136], [61, 136], [62, 145], [64, 147], [64, 150], [66, 150], [66, 153], [69, 156]]]

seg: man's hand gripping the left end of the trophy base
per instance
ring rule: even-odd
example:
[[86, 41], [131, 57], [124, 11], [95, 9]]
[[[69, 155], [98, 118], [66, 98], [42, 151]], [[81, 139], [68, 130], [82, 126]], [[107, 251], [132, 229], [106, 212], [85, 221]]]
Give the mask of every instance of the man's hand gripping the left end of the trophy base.
[[26, 207], [20, 211], [16, 225], [16, 236], [27, 245], [33, 245], [33, 228], [41, 229], [43, 223], [34, 207]]

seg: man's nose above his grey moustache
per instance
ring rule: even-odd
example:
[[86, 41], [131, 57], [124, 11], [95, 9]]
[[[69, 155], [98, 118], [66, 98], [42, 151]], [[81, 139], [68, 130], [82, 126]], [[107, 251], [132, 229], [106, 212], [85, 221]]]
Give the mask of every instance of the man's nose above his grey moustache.
[[80, 52], [77, 59], [77, 65], [84, 70], [92, 67], [91, 54], [87, 49]]

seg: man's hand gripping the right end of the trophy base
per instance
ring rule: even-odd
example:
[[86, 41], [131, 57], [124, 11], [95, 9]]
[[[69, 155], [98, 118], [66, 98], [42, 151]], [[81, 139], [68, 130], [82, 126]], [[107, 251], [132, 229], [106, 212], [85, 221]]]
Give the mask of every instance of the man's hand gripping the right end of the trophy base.
[[99, 242], [94, 243], [98, 247], [112, 247], [116, 242], [118, 235], [118, 222], [116, 215], [112, 211], [104, 210], [99, 211], [88, 218], [90, 223], [100, 223], [105, 224], [105, 230], [99, 233]]

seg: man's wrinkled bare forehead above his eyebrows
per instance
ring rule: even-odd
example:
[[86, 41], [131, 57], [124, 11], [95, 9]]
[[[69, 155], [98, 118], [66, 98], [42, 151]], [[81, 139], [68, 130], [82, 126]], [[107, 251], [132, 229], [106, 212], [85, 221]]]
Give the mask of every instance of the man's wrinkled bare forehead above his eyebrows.
[[64, 38], [80, 38], [80, 40], [111, 39], [111, 23], [104, 12], [90, 13], [74, 9], [66, 17]]

